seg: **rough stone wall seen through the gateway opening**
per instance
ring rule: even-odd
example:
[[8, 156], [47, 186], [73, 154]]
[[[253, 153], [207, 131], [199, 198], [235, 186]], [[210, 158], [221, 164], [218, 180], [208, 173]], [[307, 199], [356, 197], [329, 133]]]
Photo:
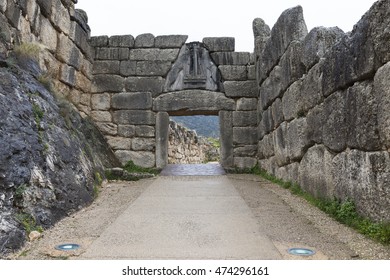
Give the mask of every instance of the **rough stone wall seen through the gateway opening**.
[[170, 121], [168, 138], [168, 163], [195, 164], [219, 160], [219, 149], [196, 131]]

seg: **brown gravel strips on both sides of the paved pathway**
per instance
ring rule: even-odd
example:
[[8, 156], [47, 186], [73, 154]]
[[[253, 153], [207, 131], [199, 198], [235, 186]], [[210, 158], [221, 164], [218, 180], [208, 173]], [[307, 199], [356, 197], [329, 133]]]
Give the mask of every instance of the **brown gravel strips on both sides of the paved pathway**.
[[[228, 175], [230, 182], [256, 217], [258, 226], [284, 259], [302, 259], [287, 253], [291, 247], [314, 249], [309, 259], [390, 260], [390, 247], [375, 243], [347, 228], [288, 190], [254, 175]], [[183, 178], [184, 179], [184, 178]], [[110, 182], [98, 199], [60, 221], [11, 259], [78, 259], [103, 232], [155, 181]], [[183, 181], [185, 184], [185, 180]], [[78, 243], [74, 252], [55, 250], [62, 243]], [[306, 257], [308, 258], [308, 257]]]

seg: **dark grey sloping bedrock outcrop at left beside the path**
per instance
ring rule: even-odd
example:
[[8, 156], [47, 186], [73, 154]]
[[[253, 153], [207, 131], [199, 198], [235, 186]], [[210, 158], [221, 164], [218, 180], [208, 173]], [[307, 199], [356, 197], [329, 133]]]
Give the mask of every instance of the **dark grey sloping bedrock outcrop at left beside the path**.
[[38, 81], [42, 74], [27, 57], [1, 62], [0, 255], [32, 228], [88, 205], [105, 167], [119, 165], [95, 125]]

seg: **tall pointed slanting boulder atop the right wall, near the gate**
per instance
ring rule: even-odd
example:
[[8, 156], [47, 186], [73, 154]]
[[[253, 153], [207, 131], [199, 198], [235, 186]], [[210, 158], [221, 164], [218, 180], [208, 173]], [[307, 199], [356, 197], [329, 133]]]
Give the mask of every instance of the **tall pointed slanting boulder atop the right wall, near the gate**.
[[264, 47], [259, 60], [258, 81], [261, 83], [268, 73], [277, 65], [290, 43], [303, 41], [307, 35], [307, 27], [301, 6], [288, 9], [282, 13], [271, 30], [271, 37]]

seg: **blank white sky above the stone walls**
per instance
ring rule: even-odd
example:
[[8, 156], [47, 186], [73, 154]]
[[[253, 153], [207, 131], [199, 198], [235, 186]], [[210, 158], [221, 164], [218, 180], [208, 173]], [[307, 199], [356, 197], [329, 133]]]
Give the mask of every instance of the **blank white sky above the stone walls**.
[[236, 51], [253, 51], [252, 21], [262, 18], [272, 28], [280, 14], [301, 5], [308, 29], [338, 26], [351, 31], [374, 0], [78, 0], [89, 17], [92, 36], [142, 33], [235, 37]]

